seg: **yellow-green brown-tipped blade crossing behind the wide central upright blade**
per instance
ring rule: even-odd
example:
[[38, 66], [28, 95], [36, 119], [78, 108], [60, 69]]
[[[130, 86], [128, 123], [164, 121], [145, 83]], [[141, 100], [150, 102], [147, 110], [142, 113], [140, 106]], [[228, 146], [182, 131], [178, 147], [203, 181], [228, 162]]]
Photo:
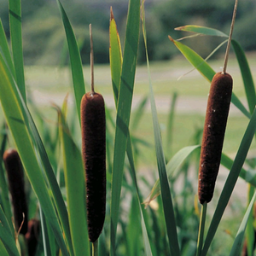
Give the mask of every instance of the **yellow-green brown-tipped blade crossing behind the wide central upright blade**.
[[[111, 75], [112, 75], [112, 84], [113, 84], [113, 96], [115, 99], [115, 105], [117, 108], [117, 102], [119, 98], [119, 83], [121, 79], [121, 67], [122, 67], [122, 55], [121, 55], [121, 45], [119, 40], [119, 33], [117, 31], [117, 26], [113, 17], [113, 10], [111, 9], [111, 20], [110, 20], [110, 27], [109, 27], [109, 37], [110, 37], [110, 67], [111, 67]], [[110, 117], [111, 119], [111, 117]], [[132, 154], [132, 147], [131, 147], [131, 137], [130, 133], [128, 131], [127, 136], [127, 147], [126, 147], [126, 153], [128, 156], [128, 160], [131, 166], [131, 178], [133, 181], [133, 184], [135, 186], [135, 189], [137, 191], [137, 203], [138, 207], [140, 209], [141, 213], [141, 221], [143, 226], [143, 242], [144, 242], [144, 248], [145, 253], [148, 256], [152, 255], [150, 243], [148, 240], [148, 230], [146, 228], [145, 219], [147, 218], [147, 214], [145, 210], [141, 206], [142, 202], [142, 195], [141, 192], [137, 186], [137, 177], [136, 177], [136, 170], [133, 160], [133, 154]]]

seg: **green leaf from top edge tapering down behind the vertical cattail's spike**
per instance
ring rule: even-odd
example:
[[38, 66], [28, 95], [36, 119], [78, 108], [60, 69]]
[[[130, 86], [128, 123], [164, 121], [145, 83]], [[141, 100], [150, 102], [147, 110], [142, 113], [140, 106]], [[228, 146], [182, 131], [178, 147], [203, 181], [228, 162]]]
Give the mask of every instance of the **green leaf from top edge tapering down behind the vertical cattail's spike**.
[[63, 25], [65, 27], [65, 32], [67, 37], [69, 58], [70, 58], [72, 78], [73, 78], [73, 90], [74, 90], [74, 96], [76, 100], [77, 112], [80, 120], [80, 102], [81, 102], [82, 96], [84, 96], [84, 93], [85, 93], [84, 74], [83, 74], [81, 55], [79, 52], [79, 46], [78, 46], [77, 40], [73, 32], [73, 28], [71, 26], [70, 21], [68, 20], [65, 9], [63, 8], [59, 0], [57, 0], [57, 3], [61, 11], [61, 18], [62, 18]]

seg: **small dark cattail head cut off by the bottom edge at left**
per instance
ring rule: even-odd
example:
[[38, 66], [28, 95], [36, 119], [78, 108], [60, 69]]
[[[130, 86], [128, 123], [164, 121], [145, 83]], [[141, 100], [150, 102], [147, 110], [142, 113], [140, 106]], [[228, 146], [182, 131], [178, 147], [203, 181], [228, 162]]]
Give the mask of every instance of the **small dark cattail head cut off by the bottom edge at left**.
[[29, 256], [34, 256], [37, 253], [38, 239], [40, 232], [40, 222], [36, 218], [32, 218], [28, 222], [28, 228], [25, 235], [27, 253]]

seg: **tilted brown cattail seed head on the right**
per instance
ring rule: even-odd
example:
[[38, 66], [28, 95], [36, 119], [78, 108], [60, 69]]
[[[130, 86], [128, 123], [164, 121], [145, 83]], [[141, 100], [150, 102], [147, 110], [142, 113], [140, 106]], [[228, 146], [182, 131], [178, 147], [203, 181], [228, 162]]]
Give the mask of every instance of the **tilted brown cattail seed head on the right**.
[[212, 200], [230, 110], [233, 80], [228, 73], [212, 79], [201, 143], [198, 196], [201, 204]]

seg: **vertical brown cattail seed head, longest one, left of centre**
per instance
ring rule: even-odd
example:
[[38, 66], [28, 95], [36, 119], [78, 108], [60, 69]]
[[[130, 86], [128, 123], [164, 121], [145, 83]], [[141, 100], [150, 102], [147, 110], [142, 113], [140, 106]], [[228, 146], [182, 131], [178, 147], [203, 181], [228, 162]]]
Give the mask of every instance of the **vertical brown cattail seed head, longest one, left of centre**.
[[81, 128], [88, 231], [94, 242], [102, 232], [106, 211], [106, 119], [102, 95], [88, 92], [83, 96]]

